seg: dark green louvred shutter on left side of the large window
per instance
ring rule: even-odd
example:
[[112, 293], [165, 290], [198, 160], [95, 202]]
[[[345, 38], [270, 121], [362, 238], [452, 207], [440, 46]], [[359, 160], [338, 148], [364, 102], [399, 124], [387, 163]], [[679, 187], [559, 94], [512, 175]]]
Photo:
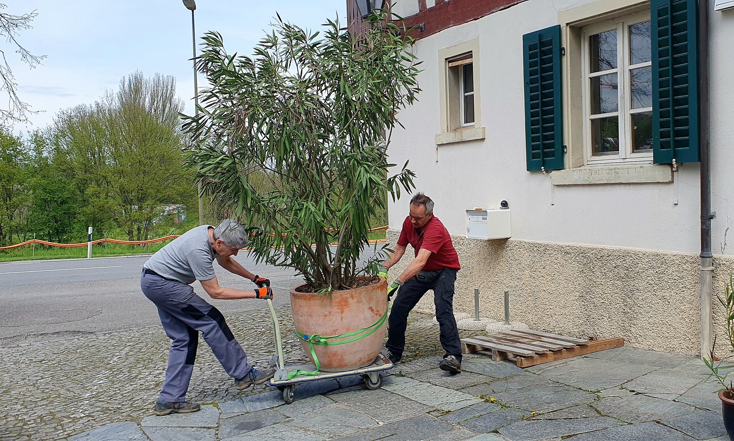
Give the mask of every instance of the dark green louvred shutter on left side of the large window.
[[563, 168], [561, 26], [523, 35], [528, 171]]

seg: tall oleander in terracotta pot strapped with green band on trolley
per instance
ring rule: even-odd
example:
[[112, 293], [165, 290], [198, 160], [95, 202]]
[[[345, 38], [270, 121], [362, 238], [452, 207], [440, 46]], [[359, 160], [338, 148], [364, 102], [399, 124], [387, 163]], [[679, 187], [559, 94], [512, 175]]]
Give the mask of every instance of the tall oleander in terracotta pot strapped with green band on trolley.
[[418, 94], [413, 39], [367, 18], [353, 37], [338, 21], [311, 33], [277, 18], [254, 56], [229, 55], [209, 32], [197, 60], [210, 86], [183, 129], [200, 140], [186, 163], [219, 204], [250, 226], [258, 262], [298, 271], [294, 324], [317, 368], [371, 363], [385, 338], [388, 300], [370, 245], [387, 193], [413, 189], [407, 163], [388, 162], [401, 108]]

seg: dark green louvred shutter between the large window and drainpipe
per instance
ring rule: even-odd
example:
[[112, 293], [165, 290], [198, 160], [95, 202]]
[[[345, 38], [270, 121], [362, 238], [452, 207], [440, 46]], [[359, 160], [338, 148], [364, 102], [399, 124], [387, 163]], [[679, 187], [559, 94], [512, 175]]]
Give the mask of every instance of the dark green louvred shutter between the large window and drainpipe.
[[695, 163], [698, 149], [696, 0], [651, 0], [653, 162]]

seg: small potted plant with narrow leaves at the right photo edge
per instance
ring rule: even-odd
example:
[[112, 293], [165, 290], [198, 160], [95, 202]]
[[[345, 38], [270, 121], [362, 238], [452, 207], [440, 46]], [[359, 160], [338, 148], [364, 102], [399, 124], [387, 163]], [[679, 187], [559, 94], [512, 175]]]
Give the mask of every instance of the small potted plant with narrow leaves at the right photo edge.
[[[711, 370], [711, 377], [716, 379], [722, 388], [717, 390], [719, 399], [722, 400], [722, 415], [724, 416], [724, 427], [730, 440], [734, 440], [734, 385], [729, 378], [729, 374], [734, 368], [731, 359], [734, 357], [734, 277], [729, 276], [729, 284], [724, 289], [724, 297], [716, 295], [719, 303], [724, 307], [724, 318], [726, 319], [726, 337], [729, 343], [730, 355], [721, 359], [713, 354], [711, 349], [708, 359], [704, 357], [704, 363]], [[713, 346], [716, 347], [716, 338], [713, 339]]]

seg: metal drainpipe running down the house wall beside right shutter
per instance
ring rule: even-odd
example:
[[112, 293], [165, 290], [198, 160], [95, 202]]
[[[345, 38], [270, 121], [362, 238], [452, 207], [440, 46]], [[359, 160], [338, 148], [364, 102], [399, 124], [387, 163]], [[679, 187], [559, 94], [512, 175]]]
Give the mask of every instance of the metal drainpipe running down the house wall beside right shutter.
[[708, 103], [708, 0], [698, 1], [699, 145], [701, 153], [701, 357], [713, 349], [713, 254], [711, 254], [711, 161]]

